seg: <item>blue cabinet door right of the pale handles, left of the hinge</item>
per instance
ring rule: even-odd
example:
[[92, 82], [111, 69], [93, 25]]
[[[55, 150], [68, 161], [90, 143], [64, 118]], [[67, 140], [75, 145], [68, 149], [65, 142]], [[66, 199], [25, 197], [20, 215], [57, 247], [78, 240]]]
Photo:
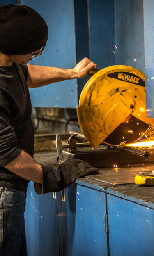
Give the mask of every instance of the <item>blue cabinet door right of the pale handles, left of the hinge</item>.
[[106, 256], [105, 193], [76, 183], [62, 201], [64, 256]]

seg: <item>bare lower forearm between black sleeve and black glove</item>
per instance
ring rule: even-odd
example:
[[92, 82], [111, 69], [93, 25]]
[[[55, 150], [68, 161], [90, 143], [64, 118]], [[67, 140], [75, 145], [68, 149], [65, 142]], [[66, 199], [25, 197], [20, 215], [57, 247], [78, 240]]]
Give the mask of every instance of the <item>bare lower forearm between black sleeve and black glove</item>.
[[30, 155], [22, 150], [21, 154], [5, 166], [9, 171], [37, 183], [42, 183], [42, 168]]

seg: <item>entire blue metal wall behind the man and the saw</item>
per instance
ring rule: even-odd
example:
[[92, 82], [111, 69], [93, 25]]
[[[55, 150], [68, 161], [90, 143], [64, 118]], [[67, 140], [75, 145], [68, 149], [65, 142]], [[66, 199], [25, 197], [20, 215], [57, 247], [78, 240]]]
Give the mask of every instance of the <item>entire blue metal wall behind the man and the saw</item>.
[[[89, 57], [99, 69], [121, 64], [144, 73], [146, 70], [147, 113], [154, 116], [153, 0], [21, 0], [21, 4], [36, 9], [49, 27], [43, 55], [30, 64], [73, 68], [83, 57]], [[87, 80], [30, 88], [32, 105], [76, 108]]]

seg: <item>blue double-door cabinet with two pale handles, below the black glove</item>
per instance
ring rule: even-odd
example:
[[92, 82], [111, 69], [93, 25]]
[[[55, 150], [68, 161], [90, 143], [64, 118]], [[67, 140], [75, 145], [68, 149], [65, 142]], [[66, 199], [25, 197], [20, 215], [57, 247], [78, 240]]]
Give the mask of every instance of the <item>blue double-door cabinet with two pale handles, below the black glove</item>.
[[108, 255], [106, 194], [79, 184], [37, 195], [29, 183], [25, 210], [28, 256]]

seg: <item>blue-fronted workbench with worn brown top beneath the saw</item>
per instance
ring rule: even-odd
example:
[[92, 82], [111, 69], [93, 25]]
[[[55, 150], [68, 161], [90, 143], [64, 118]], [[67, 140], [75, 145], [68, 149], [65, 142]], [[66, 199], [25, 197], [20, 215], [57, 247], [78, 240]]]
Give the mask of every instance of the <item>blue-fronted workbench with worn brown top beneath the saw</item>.
[[[34, 159], [56, 166], [57, 152], [37, 152]], [[139, 167], [145, 172], [146, 168], [153, 166]], [[132, 170], [123, 169], [129, 177]], [[99, 181], [98, 174], [98, 180], [79, 178], [62, 192], [37, 195], [29, 183], [28, 256], [154, 255], [154, 187], [140, 187], [133, 180], [119, 185], [113, 168], [100, 173], [117, 185]], [[119, 177], [124, 180], [123, 173]]]

